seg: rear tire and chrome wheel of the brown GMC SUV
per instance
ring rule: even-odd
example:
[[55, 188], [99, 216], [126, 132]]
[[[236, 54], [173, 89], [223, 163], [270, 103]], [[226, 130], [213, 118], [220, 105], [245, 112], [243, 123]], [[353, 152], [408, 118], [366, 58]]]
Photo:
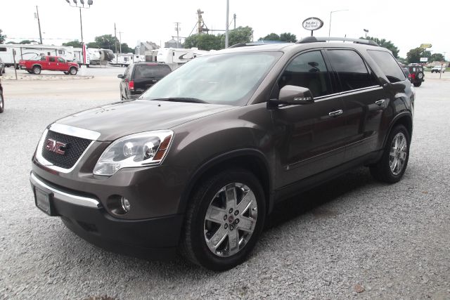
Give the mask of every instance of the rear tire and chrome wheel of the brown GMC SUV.
[[410, 144], [411, 138], [405, 126], [395, 126], [387, 138], [380, 161], [370, 167], [372, 176], [386, 183], [400, 181], [408, 165]]

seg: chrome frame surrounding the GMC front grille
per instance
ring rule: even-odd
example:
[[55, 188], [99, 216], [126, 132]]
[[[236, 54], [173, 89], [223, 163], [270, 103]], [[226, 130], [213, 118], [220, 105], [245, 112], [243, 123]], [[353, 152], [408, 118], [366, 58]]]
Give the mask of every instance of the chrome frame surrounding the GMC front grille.
[[[86, 139], [92, 140], [92, 141], [86, 147], [86, 149], [84, 150], [82, 155], [79, 156], [79, 158], [77, 159], [77, 162], [75, 162], [75, 164], [73, 164], [73, 166], [70, 169], [64, 169], [64, 168], [55, 166], [53, 163], [49, 162], [47, 159], [45, 159], [42, 156], [42, 147], [44, 146], [44, 141], [47, 136], [47, 132], [49, 132], [49, 130], [58, 132], [58, 133], [62, 133], [62, 134], [67, 134], [68, 136], [76, 136], [77, 138], [86, 138]], [[82, 128], [78, 128], [78, 127], [68, 126], [68, 125], [64, 125], [64, 124], [53, 123], [53, 124], [51, 124], [49, 129], [46, 129], [44, 131], [44, 133], [42, 133], [41, 139], [40, 139], [39, 143], [37, 144], [37, 150], [36, 150], [37, 162], [39, 162], [39, 164], [41, 164], [42, 166], [52, 169], [54, 171], [58, 171], [60, 173], [70, 173], [71, 171], [73, 171], [75, 169], [75, 167], [77, 167], [77, 164], [79, 163], [79, 161], [86, 154], [87, 150], [89, 150], [89, 148], [91, 148], [91, 145], [94, 144], [94, 142], [97, 140], [98, 137], [100, 137], [100, 133], [98, 133], [96, 131], [91, 131], [91, 130], [82, 129]]]

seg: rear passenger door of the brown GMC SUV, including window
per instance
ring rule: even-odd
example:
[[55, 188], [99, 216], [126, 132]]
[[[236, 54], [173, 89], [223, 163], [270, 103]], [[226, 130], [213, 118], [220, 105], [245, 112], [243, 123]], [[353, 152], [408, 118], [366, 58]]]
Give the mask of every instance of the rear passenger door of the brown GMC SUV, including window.
[[344, 102], [345, 162], [378, 150], [382, 115], [389, 96], [353, 49], [327, 49]]

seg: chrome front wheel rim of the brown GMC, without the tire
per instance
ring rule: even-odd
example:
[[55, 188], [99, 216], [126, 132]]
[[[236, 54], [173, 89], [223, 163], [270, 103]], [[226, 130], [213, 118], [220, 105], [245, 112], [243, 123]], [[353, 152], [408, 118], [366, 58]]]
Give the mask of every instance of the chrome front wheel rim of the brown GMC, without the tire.
[[238, 253], [252, 237], [257, 221], [255, 194], [243, 183], [230, 183], [212, 198], [204, 235], [210, 251], [221, 257]]

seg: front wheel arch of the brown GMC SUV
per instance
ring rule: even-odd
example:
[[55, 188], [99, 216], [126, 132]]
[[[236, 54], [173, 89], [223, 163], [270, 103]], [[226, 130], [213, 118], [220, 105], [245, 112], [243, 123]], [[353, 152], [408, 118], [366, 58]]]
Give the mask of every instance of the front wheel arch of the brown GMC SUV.
[[179, 213], [184, 214], [188, 204], [191, 201], [191, 195], [195, 191], [195, 188], [202, 182], [203, 178], [214, 174], [217, 171], [230, 167], [239, 167], [247, 169], [254, 174], [262, 185], [264, 190], [264, 196], [266, 200], [266, 212], [270, 213], [273, 207], [273, 200], [271, 197], [271, 176], [269, 169], [269, 162], [262, 152], [256, 149], [242, 149], [233, 150], [224, 154], [218, 155], [207, 162], [203, 163], [198, 169], [196, 169], [189, 178], [189, 183], [184, 189], [184, 193], [181, 195], [181, 202], [179, 207]]

